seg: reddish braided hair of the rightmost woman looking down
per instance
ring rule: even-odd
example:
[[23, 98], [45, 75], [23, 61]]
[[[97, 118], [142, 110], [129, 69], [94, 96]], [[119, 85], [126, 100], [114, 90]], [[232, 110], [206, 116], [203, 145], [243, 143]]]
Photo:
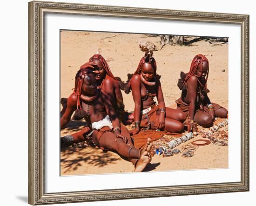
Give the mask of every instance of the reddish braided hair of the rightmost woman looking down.
[[[207, 62], [209, 64], [208, 59], [204, 55], [202, 55], [202, 54], [195, 55], [194, 59], [191, 62], [189, 73], [187, 73], [186, 77], [183, 80], [183, 85], [187, 84], [187, 82], [188, 82], [188, 80], [191, 76], [195, 75], [196, 77], [199, 77], [198, 75], [196, 75], [197, 69], [200, 69], [201, 74], [202, 74], [202, 64], [203, 64], [203, 62]], [[209, 74], [209, 67], [208, 67], [208, 70], [207, 70], [206, 82], [205, 82], [205, 85], [204, 85], [203, 89], [207, 88], [206, 83], [207, 83], [207, 80], [208, 80], [208, 74]], [[202, 84], [199, 80], [198, 80], [198, 82], [202, 86]]]

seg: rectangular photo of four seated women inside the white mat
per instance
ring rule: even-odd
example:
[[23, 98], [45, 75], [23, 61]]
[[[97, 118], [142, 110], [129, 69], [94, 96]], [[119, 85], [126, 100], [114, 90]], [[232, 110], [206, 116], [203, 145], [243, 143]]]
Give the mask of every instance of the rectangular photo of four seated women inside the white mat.
[[61, 175], [229, 167], [227, 37], [60, 30]]

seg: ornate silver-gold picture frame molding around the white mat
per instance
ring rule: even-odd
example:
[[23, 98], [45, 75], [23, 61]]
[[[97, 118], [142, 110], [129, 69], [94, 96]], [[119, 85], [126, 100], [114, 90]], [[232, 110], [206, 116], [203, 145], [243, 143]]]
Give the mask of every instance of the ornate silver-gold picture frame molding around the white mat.
[[[28, 3], [28, 203], [31, 205], [249, 191], [249, 15], [32, 1]], [[45, 193], [44, 15], [45, 13], [219, 22], [241, 26], [241, 181]]]

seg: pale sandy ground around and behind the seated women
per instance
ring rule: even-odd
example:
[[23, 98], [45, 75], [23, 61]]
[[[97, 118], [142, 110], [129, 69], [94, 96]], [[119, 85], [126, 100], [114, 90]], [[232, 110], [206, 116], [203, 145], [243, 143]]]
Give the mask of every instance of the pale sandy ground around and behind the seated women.
[[[180, 72], [188, 72], [194, 56], [202, 53], [209, 60], [209, 98], [228, 109], [228, 44], [212, 45], [202, 40], [190, 46], [166, 45], [160, 50], [162, 45], [159, 36], [143, 34], [61, 31], [61, 97], [68, 97], [72, 93], [74, 77], [79, 67], [99, 49], [108, 61], [114, 76], [126, 81], [127, 73], [135, 72], [144, 55], [139, 48], [141, 40], [149, 40], [159, 49], [154, 53], [154, 57], [157, 73], [162, 75], [161, 83], [166, 106], [175, 107], [175, 100], [181, 95], [177, 87]], [[222, 72], [223, 69], [225, 72]], [[123, 93], [123, 99], [125, 109], [133, 111], [132, 95]], [[79, 131], [83, 125], [83, 121], [72, 120], [61, 130], [61, 136]], [[193, 140], [200, 138], [198, 136]], [[187, 143], [181, 146], [185, 144]], [[228, 146], [210, 144], [199, 147], [195, 151], [195, 156], [191, 158], [183, 158], [181, 154], [164, 158], [162, 155], [155, 155], [145, 171], [227, 167]], [[124, 173], [133, 170], [132, 163], [116, 153], [103, 153], [96, 147], [71, 147], [61, 152], [61, 175]]]

